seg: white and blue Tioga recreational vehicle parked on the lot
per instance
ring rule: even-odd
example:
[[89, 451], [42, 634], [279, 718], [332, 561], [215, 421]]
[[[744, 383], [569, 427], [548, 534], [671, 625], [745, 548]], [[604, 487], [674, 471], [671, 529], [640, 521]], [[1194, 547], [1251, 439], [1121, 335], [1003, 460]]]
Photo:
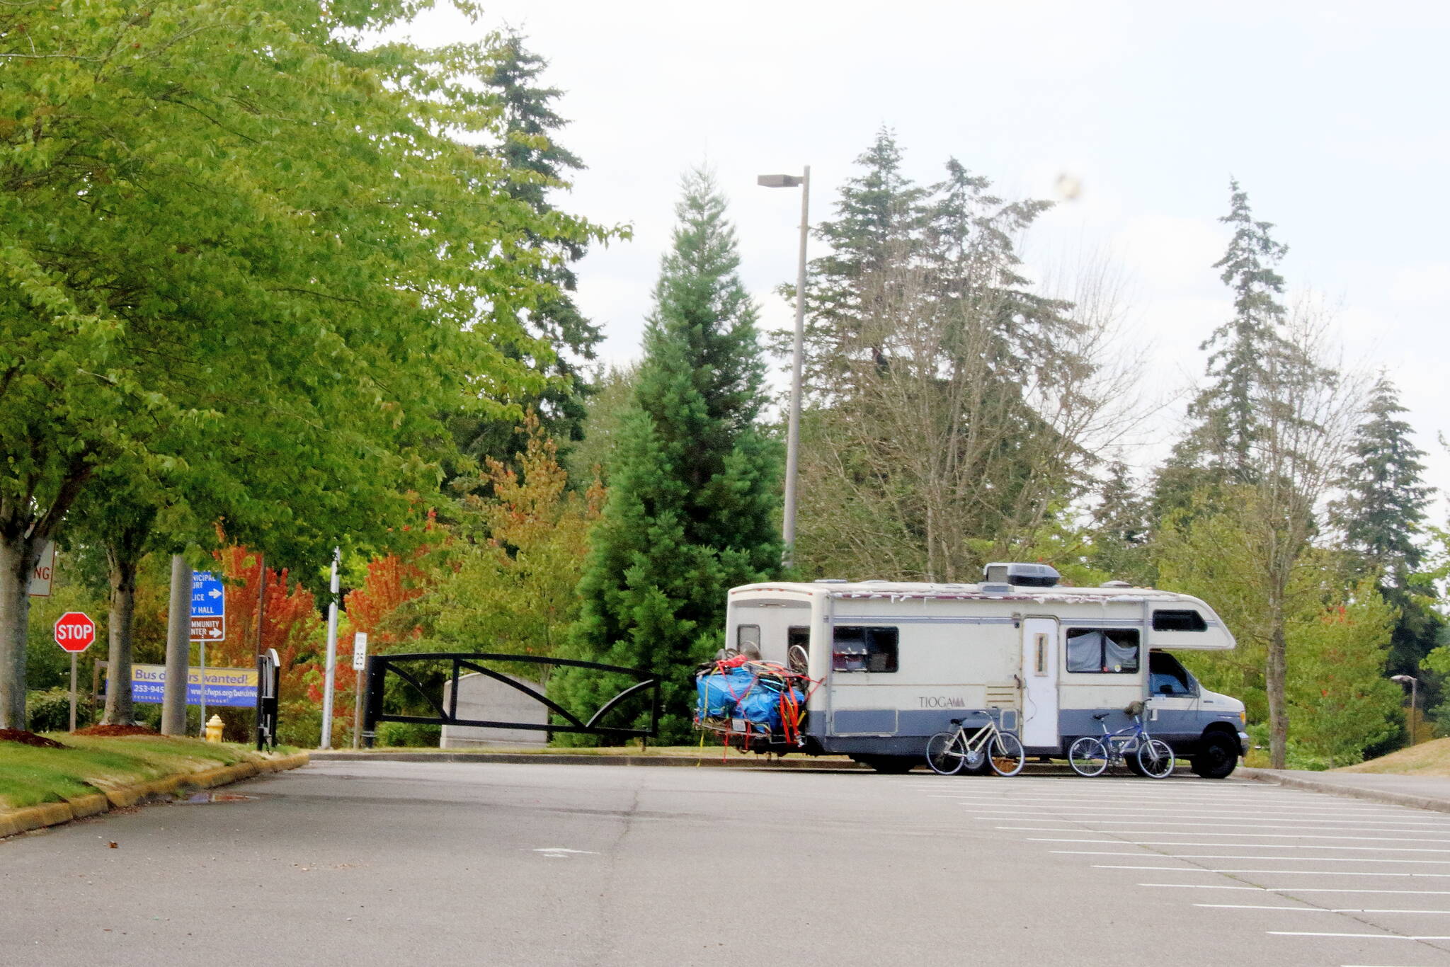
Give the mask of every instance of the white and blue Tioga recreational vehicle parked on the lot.
[[1101, 732], [1093, 715], [1112, 712], [1108, 728], [1122, 728], [1135, 700], [1199, 776], [1234, 771], [1248, 742], [1243, 702], [1208, 692], [1173, 657], [1234, 647], [1214, 609], [1121, 581], [1057, 581], [1044, 564], [989, 564], [979, 584], [745, 584], [729, 592], [726, 642], [819, 683], [803, 751], [880, 771], [921, 764], [934, 732], [987, 715], [1030, 755], [1063, 757]]

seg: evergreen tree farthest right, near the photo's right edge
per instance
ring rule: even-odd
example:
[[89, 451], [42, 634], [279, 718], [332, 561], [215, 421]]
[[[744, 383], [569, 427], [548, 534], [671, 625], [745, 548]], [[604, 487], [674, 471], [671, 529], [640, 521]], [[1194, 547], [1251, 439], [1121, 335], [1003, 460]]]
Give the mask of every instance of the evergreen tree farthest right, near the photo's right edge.
[[1354, 433], [1353, 458], [1340, 481], [1344, 496], [1333, 507], [1333, 522], [1363, 570], [1379, 573], [1385, 600], [1399, 609], [1391, 671], [1418, 676], [1444, 621], [1430, 607], [1433, 586], [1412, 578], [1424, 561], [1415, 536], [1434, 490], [1424, 486], [1425, 454], [1411, 442], [1409, 423], [1398, 416], [1404, 412], [1393, 383], [1382, 374]]

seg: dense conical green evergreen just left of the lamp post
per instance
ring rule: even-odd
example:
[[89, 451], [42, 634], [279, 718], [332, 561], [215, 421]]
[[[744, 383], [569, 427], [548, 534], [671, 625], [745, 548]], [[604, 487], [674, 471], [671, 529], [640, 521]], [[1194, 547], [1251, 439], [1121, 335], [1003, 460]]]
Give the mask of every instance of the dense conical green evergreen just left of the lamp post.
[[[677, 215], [573, 631], [576, 657], [664, 680], [667, 739], [689, 734], [690, 670], [719, 647], [726, 590], [776, 574], [782, 552], [780, 454], [757, 428], [755, 307], [708, 174], [686, 177]], [[551, 683], [579, 712], [618, 686], [567, 668]]]

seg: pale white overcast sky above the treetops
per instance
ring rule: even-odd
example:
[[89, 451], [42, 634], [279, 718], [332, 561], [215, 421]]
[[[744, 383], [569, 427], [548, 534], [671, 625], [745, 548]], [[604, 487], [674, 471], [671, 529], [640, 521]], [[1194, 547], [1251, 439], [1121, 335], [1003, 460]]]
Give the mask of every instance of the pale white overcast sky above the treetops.
[[[1153, 397], [1202, 373], [1198, 345], [1231, 313], [1212, 264], [1237, 177], [1289, 245], [1290, 289], [1334, 307], [1354, 365], [1398, 383], [1430, 483], [1450, 474], [1436, 442], [1450, 431], [1443, 4], [506, 0], [471, 25], [431, 13], [413, 36], [503, 25], [551, 62], [571, 120], [560, 142], [589, 165], [560, 207], [634, 228], [579, 271], [608, 360], [638, 355], [682, 173], [715, 170], [745, 283], [764, 325], [784, 326], [771, 289], [795, 278], [799, 196], [755, 175], [809, 164], [818, 220], [886, 125], [921, 181], [948, 157], [1008, 197], [1080, 180], [1027, 255], [1118, 265]], [[1130, 462], [1144, 468], [1176, 426], [1159, 419]]]

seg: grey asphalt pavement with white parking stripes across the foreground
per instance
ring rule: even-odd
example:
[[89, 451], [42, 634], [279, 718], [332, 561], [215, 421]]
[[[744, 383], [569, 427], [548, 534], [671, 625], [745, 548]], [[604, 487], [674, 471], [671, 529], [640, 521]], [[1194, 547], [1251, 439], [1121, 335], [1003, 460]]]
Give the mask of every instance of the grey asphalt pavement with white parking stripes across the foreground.
[[0, 842], [0, 964], [1450, 966], [1450, 816], [1262, 781], [334, 761], [220, 792], [251, 799]]

